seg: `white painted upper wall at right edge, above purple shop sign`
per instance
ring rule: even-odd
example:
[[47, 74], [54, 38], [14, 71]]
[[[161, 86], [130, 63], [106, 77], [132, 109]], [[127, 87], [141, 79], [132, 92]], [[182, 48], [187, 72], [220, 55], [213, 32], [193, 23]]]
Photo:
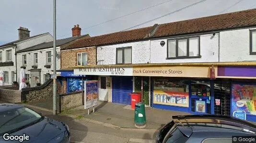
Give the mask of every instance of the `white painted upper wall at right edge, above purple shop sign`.
[[250, 55], [249, 30], [253, 29], [220, 32], [221, 62], [256, 61], [256, 55]]

